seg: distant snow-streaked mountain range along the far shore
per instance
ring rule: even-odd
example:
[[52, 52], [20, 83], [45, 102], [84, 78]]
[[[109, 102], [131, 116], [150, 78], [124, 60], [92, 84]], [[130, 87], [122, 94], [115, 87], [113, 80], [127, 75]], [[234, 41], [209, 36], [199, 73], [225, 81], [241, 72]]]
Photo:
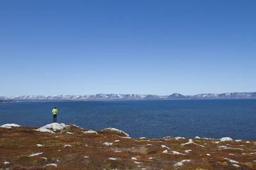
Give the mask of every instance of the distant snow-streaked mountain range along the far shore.
[[172, 100], [172, 99], [256, 99], [256, 92], [232, 92], [223, 94], [196, 94], [184, 96], [174, 93], [169, 96], [140, 94], [95, 94], [58, 96], [0, 96], [4, 101], [113, 101], [113, 100]]

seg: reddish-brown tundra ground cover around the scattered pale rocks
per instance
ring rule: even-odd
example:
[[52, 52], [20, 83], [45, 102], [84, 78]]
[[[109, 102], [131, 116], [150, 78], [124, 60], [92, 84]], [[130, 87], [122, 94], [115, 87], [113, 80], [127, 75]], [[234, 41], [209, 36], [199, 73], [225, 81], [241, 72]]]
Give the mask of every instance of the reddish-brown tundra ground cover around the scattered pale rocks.
[[[127, 139], [118, 136], [115, 131], [83, 134], [74, 125], [56, 134], [33, 129], [36, 127], [0, 128], [0, 169], [256, 169], [256, 154], [251, 154], [256, 152], [255, 141], [215, 143], [220, 140], [193, 139], [198, 145], [182, 146], [180, 144], [187, 143], [188, 139]], [[115, 142], [117, 139], [120, 141]], [[106, 146], [106, 142], [113, 144]], [[64, 145], [72, 147], [64, 148]], [[168, 150], [168, 153], [163, 153], [164, 150]], [[186, 150], [192, 151], [187, 153]], [[173, 154], [173, 151], [182, 154]], [[30, 157], [32, 153], [41, 152]], [[132, 160], [132, 157], [136, 160]], [[224, 158], [236, 160], [239, 167]], [[182, 160], [191, 162], [174, 166]]]

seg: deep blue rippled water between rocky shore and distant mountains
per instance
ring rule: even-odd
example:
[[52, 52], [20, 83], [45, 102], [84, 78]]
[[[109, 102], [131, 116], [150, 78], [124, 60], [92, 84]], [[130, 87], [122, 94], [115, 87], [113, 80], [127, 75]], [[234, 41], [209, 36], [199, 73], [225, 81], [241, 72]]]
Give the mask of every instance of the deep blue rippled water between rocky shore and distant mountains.
[[54, 106], [57, 122], [84, 129], [115, 127], [132, 138], [256, 139], [256, 99], [0, 103], [0, 125], [52, 123]]

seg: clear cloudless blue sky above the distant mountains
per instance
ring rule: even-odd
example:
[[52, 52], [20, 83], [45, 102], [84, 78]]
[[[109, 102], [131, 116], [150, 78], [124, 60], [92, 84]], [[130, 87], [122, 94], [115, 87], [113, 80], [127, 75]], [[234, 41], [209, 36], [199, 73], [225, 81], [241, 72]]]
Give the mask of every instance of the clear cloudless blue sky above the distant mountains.
[[256, 91], [256, 1], [0, 1], [0, 96]]

